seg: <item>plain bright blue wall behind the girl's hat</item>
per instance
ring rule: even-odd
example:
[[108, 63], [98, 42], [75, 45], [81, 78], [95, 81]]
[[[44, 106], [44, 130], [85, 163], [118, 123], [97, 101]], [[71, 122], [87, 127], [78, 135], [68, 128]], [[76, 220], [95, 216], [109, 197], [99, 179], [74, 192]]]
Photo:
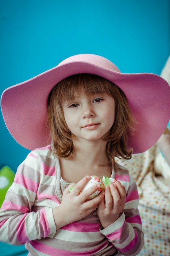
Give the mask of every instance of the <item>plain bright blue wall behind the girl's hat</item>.
[[[170, 1], [0, 1], [0, 94], [80, 53], [109, 58], [121, 72], [160, 74], [170, 54]], [[16, 171], [28, 153], [0, 113], [0, 168]]]

